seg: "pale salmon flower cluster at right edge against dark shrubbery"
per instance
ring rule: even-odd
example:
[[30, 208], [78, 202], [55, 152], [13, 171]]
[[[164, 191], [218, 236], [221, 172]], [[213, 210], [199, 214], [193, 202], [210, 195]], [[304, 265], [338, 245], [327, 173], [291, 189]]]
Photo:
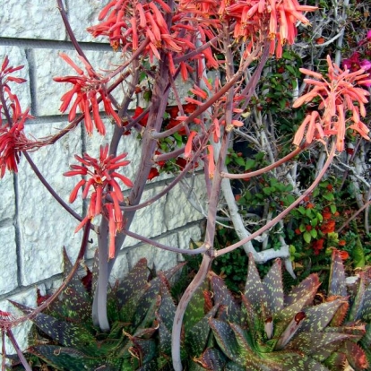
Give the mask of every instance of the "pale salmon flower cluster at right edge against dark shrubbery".
[[[301, 73], [309, 75], [310, 79], [304, 79], [308, 85], [314, 88], [298, 98], [293, 108], [312, 101], [319, 97], [321, 103], [318, 107], [322, 114], [313, 111], [308, 114], [294, 137], [294, 144], [300, 145], [306, 133], [306, 143], [317, 139], [324, 142], [324, 138], [336, 135], [337, 151], [344, 151], [346, 130], [352, 129], [369, 140], [367, 125], [360, 121], [360, 116], [366, 116], [365, 103], [369, 92], [356, 85], [367, 85], [371, 80], [364, 70], [349, 73], [349, 70], [341, 70], [338, 65], [332, 64], [330, 56], [327, 56], [328, 73], [324, 77], [321, 73], [315, 73], [305, 68], [300, 68]], [[347, 118], [347, 112], [351, 117]], [[351, 120], [352, 125], [347, 126]]]

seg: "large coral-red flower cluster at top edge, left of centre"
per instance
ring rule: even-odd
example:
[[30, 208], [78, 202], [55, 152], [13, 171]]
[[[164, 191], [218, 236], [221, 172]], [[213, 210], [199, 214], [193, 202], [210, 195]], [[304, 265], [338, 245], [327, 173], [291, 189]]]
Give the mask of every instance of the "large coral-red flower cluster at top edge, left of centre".
[[[205, 38], [204, 31], [194, 25], [183, 22], [186, 13], [177, 12], [172, 17], [171, 24], [168, 17], [172, 9], [162, 0], [154, 2], [113, 0], [99, 13], [100, 23], [88, 29], [94, 37], [108, 37], [111, 46], [134, 52], [143, 47], [142, 56], [161, 59], [160, 52], [168, 56], [170, 73], [176, 73], [173, 56], [184, 55], [187, 50], [195, 49], [194, 39], [197, 32]], [[210, 35], [209, 35], [210, 36]], [[212, 35], [211, 35], [212, 36]], [[211, 53], [211, 47], [203, 50], [203, 56], [209, 66], [218, 67], [217, 61]], [[187, 79], [189, 65], [181, 62], [181, 73]]]

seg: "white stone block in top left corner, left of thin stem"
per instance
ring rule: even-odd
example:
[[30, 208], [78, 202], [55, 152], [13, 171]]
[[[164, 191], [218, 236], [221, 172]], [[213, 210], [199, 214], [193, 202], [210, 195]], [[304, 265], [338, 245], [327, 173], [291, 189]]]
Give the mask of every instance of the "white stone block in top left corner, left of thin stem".
[[3, 38], [65, 39], [56, 0], [2, 1], [0, 24]]

